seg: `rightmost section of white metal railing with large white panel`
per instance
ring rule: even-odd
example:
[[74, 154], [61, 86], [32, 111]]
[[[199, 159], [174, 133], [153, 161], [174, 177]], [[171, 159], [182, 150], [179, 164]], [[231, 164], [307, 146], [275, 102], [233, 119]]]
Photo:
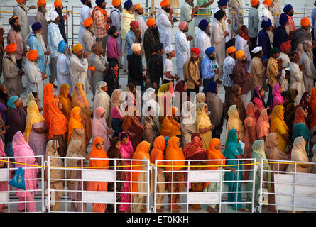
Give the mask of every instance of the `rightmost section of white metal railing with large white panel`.
[[[262, 211], [262, 206], [274, 206], [276, 212], [293, 211], [294, 213], [295, 211], [316, 211], [315, 162], [261, 160], [261, 166], [263, 166], [263, 163], [277, 164], [278, 167], [275, 171], [261, 168], [261, 187], [259, 190], [260, 212]], [[306, 172], [297, 171], [298, 165], [301, 164], [305, 165]], [[281, 171], [280, 165], [293, 165], [293, 172]], [[267, 179], [263, 179], [265, 173], [271, 174], [271, 182]], [[271, 186], [274, 186], [274, 190], [271, 190], [271, 192], [263, 192], [263, 184], [271, 184]], [[263, 197], [266, 197], [264, 201], [262, 199]], [[274, 203], [269, 200], [270, 198], [273, 199], [273, 197], [275, 200]]]

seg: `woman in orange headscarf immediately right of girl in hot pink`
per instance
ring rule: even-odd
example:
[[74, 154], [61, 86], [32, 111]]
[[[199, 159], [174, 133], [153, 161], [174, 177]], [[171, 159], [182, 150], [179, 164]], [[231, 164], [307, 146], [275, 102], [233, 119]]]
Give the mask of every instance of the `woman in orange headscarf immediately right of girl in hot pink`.
[[[150, 160], [149, 157], [149, 148], [151, 147], [151, 144], [147, 141], [143, 141], [138, 144], [135, 153], [133, 155], [134, 160], [143, 160], [146, 158], [147, 160]], [[131, 169], [136, 171], [131, 173], [131, 192], [134, 192], [132, 201], [134, 203], [146, 203], [146, 194], [135, 194], [135, 192], [147, 192], [147, 184], [145, 183], [138, 183], [138, 182], [146, 182], [147, 181], [147, 173], [146, 172], [137, 172], [137, 171], [146, 171], [147, 166], [135, 166], [135, 165], [141, 165], [146, 164], [142, 161], [132, 161]], [[146, 208], [144, 205], [141, 204], [132, 204], [131, 206], [133, 213], [144, 213], [146, 212]]]

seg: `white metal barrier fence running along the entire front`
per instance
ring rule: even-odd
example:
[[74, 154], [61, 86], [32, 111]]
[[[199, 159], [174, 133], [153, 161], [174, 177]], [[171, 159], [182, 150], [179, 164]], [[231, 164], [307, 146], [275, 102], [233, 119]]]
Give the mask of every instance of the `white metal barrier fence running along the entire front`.
[[[229, 204], [241, 204], [243, 207], [248, 204], [251, 212], [260, 213], [266, 211], [263, 206], [275, 206], [276, 211], [316, 211], [316, 175], [302, 172], [302, 168], [312, 168], [309, 172], [315, 172], [314, 162], [255, 159], [176, 160], [185, 162], [184, 165], [178, 165], [175, 160], [163, 160], [165, 163], [160, 165], [157, 160], [155, 164], [150, 164], [146, 159], [91, 158], [90, 160], [108, 160], [109, 166], [89, 167], [85, 157], [48, 156], [45, 162], [43, 155], [14, 158], [15, 161], [13, 157], [0, 157], [0, 162], [6, 163], [0, 168], [0, 205], [7, 204], [9, 213], [21, 210], [24, 206], [24, 211], [29, 211], [28, 204], [31, 204], [31, 208], [32, 204], [35, 204], [36, 212], [48, 213], [91, 212], [92, 204], [107, 204], [107, 212], [109, 205], [113, 212], [119, 212], [119, 206], [126, 204], [129, 205], [126, 211], [133, 213], [156, 213], [163, 205], [166, 211], [170, 208], [170, 211], [174, 212], [179, 209], [177, 206], [180, 206], [182, 211], [184, 208], [185, 212], [190, 212], [191, 206], [196, 208], [197, 204], [208, 204], [213, 208], [217, 205], [220, 213], [231, 212], [228, 210]], [[40, 165], [28, 164], [34, 163], [30, 161], [34, 158]], [[62, 160], [63, 166], [55, 164], [58, 160]], [[212, 165], [213, 163], [217, 165]], [[266, 168], [267, 164], [271, 169]], [[26, 171], [38, 172], [36, 178], [29, 177], [29, 174], [25, 176], [26, 185], [28, 181], [36, 181], [37, 189], [29, 189], [26, 186], [25, 191], [17, 190], [6, 184], [13, 177], [12, 171], [17, 170], [19, 165]], [[288, 165], [293, 165], [293, 169], [287, 169]], [[209, 170], [208, 167], [215, 167], [216, 170]], [[228, 167], [236, 169], [236, 173], [227, 169]], [[138, 180], [133, 179], [133, 172], [139, 173]], [[244, 179], [247, 173], [249, 179]], [[271, 173], [271, 179], [264, 177], [268, 173]], [[231, 177], [224, 177], [225, 175]], [[99, 190], [92, 191], [90, 182], [98, 183]], [[102, 188], [102, 182], [107, 184], [107, 187]], [[123, 189], [134, 182], [138, 182], [137, 192], [132, 192], [131, 187], [129, 192]], [[205, 185], [207, 183], [210, 184]], [[3, 185], [6, 185], [6, 188]], [[20, 194], [16, 195], [16, 192]], [[122, 196], [126, 198], [124, 201]], [[192, 208], [193, 211], [197, 210]], [[236, 209], [234, 212], [237, 212]]]

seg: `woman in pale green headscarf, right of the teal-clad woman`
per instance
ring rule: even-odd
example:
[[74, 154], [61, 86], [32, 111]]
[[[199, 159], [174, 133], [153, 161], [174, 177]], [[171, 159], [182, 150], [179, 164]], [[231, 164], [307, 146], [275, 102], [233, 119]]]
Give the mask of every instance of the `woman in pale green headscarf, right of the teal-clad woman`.
[[[251, 158], [255, 158], [255, 162], [261, 162], [262, 159], [266, 158], [266, 145], [264, 144], [264, 140], [256, 140], [254, 141], [254, 144], [252, 145], [252, 153]], [[254, 167], [254, 166], [252, 166]], [[251, 168], [253, 169], [253, 168]], [[263, 163], [263, 170], [271, 170], [270, 165], [268, 163]], [[249, 175], [249, 180], [254, 179], [254, 172], [251, 171]], [[260, 179], [261, 179], [261, 165], [258, 165], [258, 169], [256, 170], [256, 176], [255, 176], [255, 189], [254, 189], [254, 208], [256, 209], [256, 206], [259, 206], [259, 188], [260, 188]], [[271, 181], [271, 172], [263, 172], [263, 181]], [[252, 191], [252, 185], [253, 182], [248, 182], [246, 191]], [[264, 187], [264, 184], [263, 184]], [[270, 192], [270, 184], [266, 184], [266, 188], [268, 189], [268, 192]], [[247, 202], [252, 201], [252, 193], [247, 193]], [[251, 210], [251, 204], [246, 204], [246, 211]]]

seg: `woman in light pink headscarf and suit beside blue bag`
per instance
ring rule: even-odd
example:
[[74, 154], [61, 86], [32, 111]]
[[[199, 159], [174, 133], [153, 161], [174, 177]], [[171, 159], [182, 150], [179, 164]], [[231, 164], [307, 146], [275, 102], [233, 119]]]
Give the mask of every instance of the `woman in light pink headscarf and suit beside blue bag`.
[[[12, 140], [12, 148], [14, 150], [14, 157], [16, 162], [21, 162], [29, 165], [38, 165], [36, 159], [34, 157], [34, 152], [26, 143], [26, 140], [21, 133], [18, 131], [16, 135], [13, 136]], [[23, 156], [31, 156], [31, 157], [23, 157]], [[18, 211], [24, 211], [27, 209], [28, 212], [36, 212], [36, 202], [34, 201], [34, 194], [36, 192], [37, 187], [37, 169], [29, 169], [30, 166], [27, 165], [19, 165], [16, 164], [16, 167], [22, 167], [25, 170], [24, 179], [26, 182], [26, 190], [33, 190], [32, 192], [26, 192], [22, 189], [16, 189], [16, 196], [18, 196]], [[32, 180], [27, 180], [32, 179]], [[23, 203], [23, 201], [34, 201]]]

